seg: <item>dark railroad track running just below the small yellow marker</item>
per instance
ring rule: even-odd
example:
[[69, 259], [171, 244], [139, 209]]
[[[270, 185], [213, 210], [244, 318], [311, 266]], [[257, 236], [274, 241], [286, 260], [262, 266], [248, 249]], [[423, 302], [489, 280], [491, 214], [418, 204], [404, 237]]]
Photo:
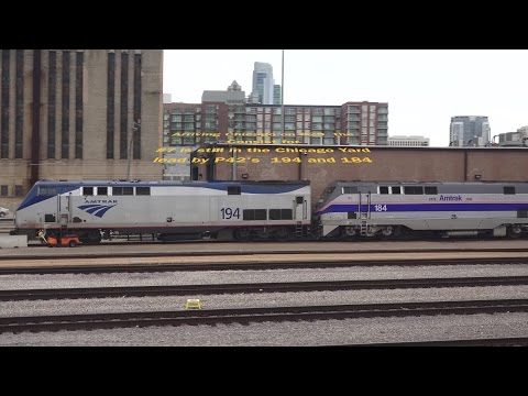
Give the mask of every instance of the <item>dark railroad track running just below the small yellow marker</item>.
[[501, 299], [3, 317], [0, 333], [527, 311], [528, 299]]

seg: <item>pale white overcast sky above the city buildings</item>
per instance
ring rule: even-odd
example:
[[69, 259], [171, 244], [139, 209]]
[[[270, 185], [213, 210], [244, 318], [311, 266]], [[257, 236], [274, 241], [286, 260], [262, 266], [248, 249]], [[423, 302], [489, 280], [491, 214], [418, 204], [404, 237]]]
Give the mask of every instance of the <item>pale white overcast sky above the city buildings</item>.
[[[251, 94], [255, 62], [282, 84], [282, 50], [164, 50], [163, 92], [200, 103], [237, 80]], [[284, 50], [284, 103], [388, 103], [388, 135], [449, 145], [454, 116], [487, 116], [491, 135], [528, 125], [528, 50]]]

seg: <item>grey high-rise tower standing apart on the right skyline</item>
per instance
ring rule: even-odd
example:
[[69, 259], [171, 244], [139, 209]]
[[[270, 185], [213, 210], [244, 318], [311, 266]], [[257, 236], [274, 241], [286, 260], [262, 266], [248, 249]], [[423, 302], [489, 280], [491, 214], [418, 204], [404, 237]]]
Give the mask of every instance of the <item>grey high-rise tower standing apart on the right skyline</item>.
[[457, 116], [451, 117], [449, 145], [485, 146], [490, 142], [491, 129], [487, 117]]

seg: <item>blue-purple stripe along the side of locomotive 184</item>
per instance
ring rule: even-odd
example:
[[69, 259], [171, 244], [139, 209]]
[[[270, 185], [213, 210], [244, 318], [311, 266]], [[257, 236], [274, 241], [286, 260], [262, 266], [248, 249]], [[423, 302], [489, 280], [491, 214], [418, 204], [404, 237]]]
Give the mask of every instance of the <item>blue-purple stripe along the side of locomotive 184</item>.
[[[376, 206], [386, 206], [387, 210], [376, 211]], [[376, 204], [371, 205], [371, 212], [386, 213], [386, 212], [418, 212], [418, 211], [513, 211], [527, 210], [528, 202], [509, 202], [509, 204]], [[316, 215], [339, 213], [339, 212], [358, 211], [358, 204], [330, 205], [328, 208], [316, 212]], [[361, 206], [361, 211], [369, 211], [367, 205]]]

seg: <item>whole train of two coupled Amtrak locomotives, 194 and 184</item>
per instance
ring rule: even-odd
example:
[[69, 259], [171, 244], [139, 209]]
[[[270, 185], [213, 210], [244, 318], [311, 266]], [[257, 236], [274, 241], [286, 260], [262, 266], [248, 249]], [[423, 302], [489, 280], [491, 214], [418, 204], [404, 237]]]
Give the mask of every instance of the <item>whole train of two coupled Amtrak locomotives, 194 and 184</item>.
[[84, 243], [182, 239], [369, 239], [528, 234], [528, 183], [37, 182], [13, 233]]

